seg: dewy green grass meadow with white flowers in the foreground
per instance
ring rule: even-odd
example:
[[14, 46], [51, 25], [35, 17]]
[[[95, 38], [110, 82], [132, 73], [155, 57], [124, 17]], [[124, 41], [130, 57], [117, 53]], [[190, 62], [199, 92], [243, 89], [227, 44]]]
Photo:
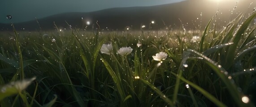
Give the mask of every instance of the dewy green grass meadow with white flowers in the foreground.
[[0, 33], [0, 107], [253, 107], [255, 16], [190, 31], [14, 25]]

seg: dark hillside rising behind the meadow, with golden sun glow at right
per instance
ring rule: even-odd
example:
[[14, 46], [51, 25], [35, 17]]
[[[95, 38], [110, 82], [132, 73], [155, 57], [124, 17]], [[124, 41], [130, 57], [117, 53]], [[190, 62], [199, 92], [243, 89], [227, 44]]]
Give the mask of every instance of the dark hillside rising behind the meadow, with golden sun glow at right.
[[[230, 17], [234, 18], [241, 12], [247, 14], [252, 12], [255, 4], [250, 6], [251, 3], [252, 1], [250, 0], [241, 0], [235, 10], [233, 10], [236, 5], [234, 2], [228, 3], [227, 1], [222, 1], [220, 4], [217, 4], [217, 2], [210, 0], [187, 0], [174, 4], [151, 7], [110, 8], [95, 12], [63, 13], [38, 19], [38, 21], [42, 30], [55, 29], [53, 22], [60, 29], [68, 29], [69, 25], [72, 28], [84, 29], [86, 21], [90, 21], [93, 24], [98, 21], [101, 29], [108, 27], [110, 30], [123, 30], [126, 26], [129, 26], [131, 29], [140, 29], [141, 25], [146, 25], [145, 29], [148, 29], [151, 21], [156, 22], [152, 25], [153, 29], [165, 29], [166, 26], [175, 29], [179, 28], [180, 19], [185, 28], [198, 29], [198, 25], [202, 24], [204, 27], [211, 17], [216, 14], [217, 10], [219, 10], [218, 25], [226, 25]], [[201, 13], [202, 22], [200, 20]], [[231, 15], [231, 13], [233, 14]], [[0, 24], [0, 28], [3, 30], [12, 29], [10, 25]], [[14, 23], [14, 25], [16, 29], [39, 30], [36, 20]], [[91, 29], [91, 26], [92, 24], [88, 28]]]

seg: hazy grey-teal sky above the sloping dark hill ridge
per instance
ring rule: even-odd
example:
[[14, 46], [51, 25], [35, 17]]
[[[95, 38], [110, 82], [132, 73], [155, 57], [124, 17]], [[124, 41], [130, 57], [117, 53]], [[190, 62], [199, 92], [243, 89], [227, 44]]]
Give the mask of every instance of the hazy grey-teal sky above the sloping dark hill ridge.
[[[91, 12], [106, 8], [152, 6], [184, 0], [0, 0], [0, 23], [30, 21], [64, 12]], [[12, 19], [6, 19], [11, 15]]]

